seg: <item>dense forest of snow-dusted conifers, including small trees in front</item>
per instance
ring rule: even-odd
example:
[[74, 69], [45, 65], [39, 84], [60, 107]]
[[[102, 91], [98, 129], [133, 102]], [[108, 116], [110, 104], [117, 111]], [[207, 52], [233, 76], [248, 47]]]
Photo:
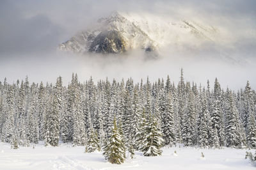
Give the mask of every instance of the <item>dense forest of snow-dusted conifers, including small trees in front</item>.
[[[0, 82], [0, 136], [18, 146], [72, 143], [103, 151], [109, 162], [124, 162], [125, 151], [161, 155], [163, 146], [256, 148], [256, 93], [245, 82], [239, 91], [169, 76], [156, 82], [100, 80], [68, 86]], [[116, 155], [117, 154], [117, 155]]]

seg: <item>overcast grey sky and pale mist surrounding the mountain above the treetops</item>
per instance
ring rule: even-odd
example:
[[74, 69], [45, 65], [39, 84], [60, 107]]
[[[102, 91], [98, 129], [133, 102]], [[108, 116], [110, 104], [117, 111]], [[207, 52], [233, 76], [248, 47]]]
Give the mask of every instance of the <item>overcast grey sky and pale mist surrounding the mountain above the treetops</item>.
[[[244, 88], [249, 80], [256, 88], [256, 1], [120, 1], [120, 0], [1, 0], [0, 1], [0, 81], [23, 79], [54, 82], [62, 75], [69, 81], [72, 72], [81, 80], [92, 75], [104, 77], [136, 77], [136, 79], [166, 77], [179, 80], [179, 68], [183, 67], [188, 81], [214, 81], [220, 77], [223, 88]], [[81, 56], [65, 56], [56, 52], [61, 42], [68, 40], [77, 31], [88, 27], [100, 17], [118, 10], [125, 12], [149, 12], [170, 15], [176, 18], [199, 19], [207, 24], [226, 27], [236, 37], [231, 57], [239, 58], [244, 65], [225, 65], [218, 61], [192, 62], [193, 59], [159, 59], [138, 62], [136, 53], [127, 61]], [[168, 53], [168, 52], [166, 52]], [[204, 52], [202, 55], [205, 55]], [[207, 55], [207, 54], [206, 54]], [[211, 54], [209, 54], [211, 55]], [[168, 55], [165, 55], [168, 56]], [[167, 57], [166, 57], [167, 58]], [[179, 61], [177, 61], [179, 60]], [[167, 61], [167, 62], [166, 62]], [[175, 62], [179, 64], [175, 64]], [[213, 64], [215, 63], [215, 65]], [[135, 65], [135, 66], [134, 66]], [[133, 67], [132, 67], [133, 66]], [[154, 69], [152, 69], [152, 67]], [[113, 69], [115, 68], [115, 69]], [[154, 72], [152, 71], [154, 70]], [[186, 74], [187, 70], [187, 74]], [[118, 71], [118, 73], [116, 73]]]

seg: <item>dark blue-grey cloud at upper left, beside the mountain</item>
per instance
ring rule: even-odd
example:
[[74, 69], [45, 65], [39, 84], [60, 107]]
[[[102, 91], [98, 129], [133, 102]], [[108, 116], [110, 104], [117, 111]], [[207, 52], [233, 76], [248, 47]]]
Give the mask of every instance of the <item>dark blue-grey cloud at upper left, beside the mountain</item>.
[[[5, 11], [3, 10], [5, 9]], [[61, 28], [45, 15], [24, 17], [9, 2], [1, 4], [0, 55], [36, 54], [56, 49]]]

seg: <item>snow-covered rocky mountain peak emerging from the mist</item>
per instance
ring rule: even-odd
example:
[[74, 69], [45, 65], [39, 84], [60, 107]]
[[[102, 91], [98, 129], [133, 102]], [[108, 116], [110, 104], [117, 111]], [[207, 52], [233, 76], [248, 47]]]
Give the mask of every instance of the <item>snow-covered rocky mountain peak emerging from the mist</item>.
[[95, 27], [77, 33], [59, 48], [76, 53], [123, 53], [131, 49], [151, 52], [166, 45], [196, 48], [218, 42], [218, 29], [189, 20], [168, 20], [114, 12], [99, 19]]

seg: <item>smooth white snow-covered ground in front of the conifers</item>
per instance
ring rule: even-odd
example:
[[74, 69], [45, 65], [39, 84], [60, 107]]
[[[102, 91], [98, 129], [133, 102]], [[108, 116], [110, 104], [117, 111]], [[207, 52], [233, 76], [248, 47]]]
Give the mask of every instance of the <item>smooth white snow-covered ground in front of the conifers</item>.
[[[205, 158], [201, 158], [201, 152]], [[122, 165], [113, 165], [106, 162], [100, 152], [84, 153], [84, 147], [70, 144], [53, 148], [40, 143], [35, 148], [11, 150], [10, 144], [0, 143], [0, 169], [255, 169], [249, 160], [244, 159], [245, 152], [231, 148], [173, 147], [165, 148], [161, 157], [143, 157], [141, 152], [136, 152], [134, 159], [128, 158]]]

